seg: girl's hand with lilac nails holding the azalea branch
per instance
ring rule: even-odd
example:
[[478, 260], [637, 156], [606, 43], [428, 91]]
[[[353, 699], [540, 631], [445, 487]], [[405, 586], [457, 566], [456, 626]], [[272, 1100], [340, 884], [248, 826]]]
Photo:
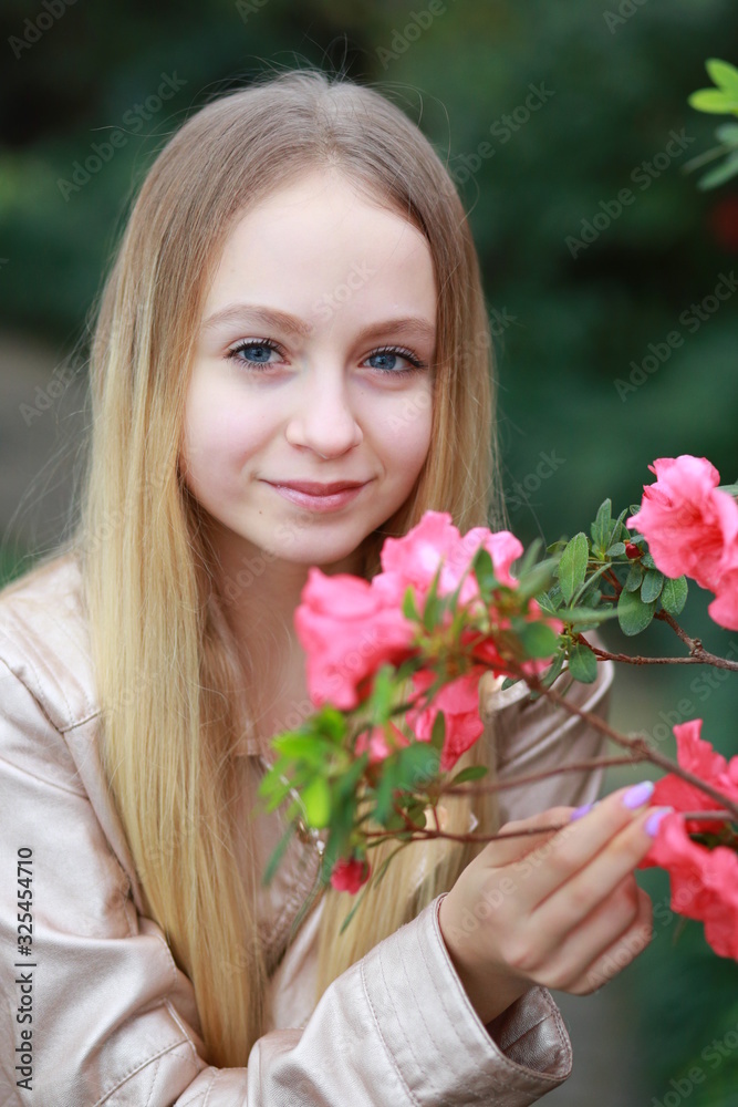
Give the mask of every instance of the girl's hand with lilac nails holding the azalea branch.
[[644, 806], [652, 792], [621, 788], [573, 821], [554, 807], [508, 823], [501, 834], [567, 825], [488, 842], [444, 897], [441, 934], [485, 1024], [533, 984], [594, 992], [648, 944], [651, 900], [633, 870], [659, 818]]

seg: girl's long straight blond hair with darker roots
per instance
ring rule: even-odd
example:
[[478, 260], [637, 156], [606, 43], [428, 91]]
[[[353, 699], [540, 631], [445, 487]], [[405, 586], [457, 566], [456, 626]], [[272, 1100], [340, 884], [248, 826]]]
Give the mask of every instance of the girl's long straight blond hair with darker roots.
[[[91, 350], [92, 432], [70, 549], [85, 581], [102, 755], [152, 918], [195, 989], [207, 1059], [246, 1065], [264, 1025], [259, 873], [237, 877], [232, 749], [250, 705], [222, 619], [202, 513], [178, 470], [194, 341], [237, 216], [311, 168], [335, 167], [425, 235], [437, 288], [432, 445], [402, 509], [364, 544], [428, 508], [464, 531], [495, 521], [492, 352], [476, 250], [437, 153], [378, 92], [289, 70], [193, 115], [146, 175], [106, 280]], [[248, 685], [248, 675], [246, 683]], [[113, 710], [114, 708], [114, 710]], [[493, 762], [478, 743], [466, 764]], [[493, 824], [487, 799], [445, 805], [448, 827]], [[391, 847], [374, 850], [381, 865]], [[323, 892], [318, 996], [449, 889], [480, 847], [404, 849], [376, 894]], [[363, 910], [364, 906], [366, 910]], [[224, 951], [241, 950], [229, 959]]]

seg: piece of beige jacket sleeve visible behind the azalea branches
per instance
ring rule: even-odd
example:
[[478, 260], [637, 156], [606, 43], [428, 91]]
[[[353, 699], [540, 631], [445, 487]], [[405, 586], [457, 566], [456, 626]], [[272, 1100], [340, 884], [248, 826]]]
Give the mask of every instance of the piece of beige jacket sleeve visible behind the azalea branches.
[[[564, 671], [554, 687], [575, 706], [606, 718], [614, 669], [612, 661], [601, 663], [593, 684], [572, 681]], [[606, 753], [607, 739], [600, 731], [544, 696], [531, 700], [522, 682], [493, 693], [485, 714], [497, 744], [498, 778], [503, 782], [573, 766]], [[505, 788], [498, 794], [500, 823], [527, 818], [549, 807], [592, 803], [603, 777], [601, 768], [574, 769]]]

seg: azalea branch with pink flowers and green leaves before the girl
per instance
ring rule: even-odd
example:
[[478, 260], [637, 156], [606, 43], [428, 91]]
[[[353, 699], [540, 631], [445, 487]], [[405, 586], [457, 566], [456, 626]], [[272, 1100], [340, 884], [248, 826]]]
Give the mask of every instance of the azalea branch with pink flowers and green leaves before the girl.
[[[604, 660], [738, 670], [738, 662], [705, 650], [676, 621], [690, 577], [714, 592], [713, 619], [738, 629], [736, 489], [718, 488], [717, 470], [705, 458], [662, 458], [652, 468], [657, 480], [644, 489], [643, 503], [630, 508], [631, 518], [628, 509], [614, 518], [607, 499], [589, 535], [554, 544], [542, 561], [540, 545], [523, 556], [508, 531], [477, 527], [461, 536], [449, 515], [426, 511], [407, 535], [386, 539], [382, 571], [372, 580], [310, 570], [295, 628], [318, 710], [297, 731], [272, 739], [278, 759], [260, 795], [268, 810], [292, 796], [288, 818], [295, 826], [328, 829], [323, 883], [351, 892], [378, 883], [398, 850], [375, 873], [366, 855], [388, 839], [399, 848], [444, 837], [485, 844], [561, 829], [451, 832], [439, 803], [445, 795], [470, 797], [648, 761], [667, 774], [656, 782], [654, 796], [679, 814], [659, 824], [644, 863], [674, 872], [669, 858], [678, 856], [709, 870], [700, 903], [713, 904], [721, 920], [730, 918], [730, 904], [715, 889], [725, 884], [717, 869], [738, 883], [738, 835], [729, 828], [738, 824], [738, 757], [728, 764], [716, 754], [694, 720], [674, 727], [673, 761], [644, 736], [624, 735], [571, 703], [555, 686], [564, 666], [574, 681], [594, 682]], [[586, 635], [609, 619], [617, 620], [626, 638], [663, 620], [689, 656], [603, 650]], [[487, 775], [484, 765], [449, 776], [485, 732], [479, 681], [487, 672], [523, 682], [531, 695], [547, 696], [627, 756], [567, 763], [562, 748], [560, 765], [505, 782], [477, 783]], [[268, 866], [270, 876], [276, 863]], [[709, 934], [708, 940], [718, 952], [735, 950], [738, 956], [738, 910], [729, 931], [725, 941]]]

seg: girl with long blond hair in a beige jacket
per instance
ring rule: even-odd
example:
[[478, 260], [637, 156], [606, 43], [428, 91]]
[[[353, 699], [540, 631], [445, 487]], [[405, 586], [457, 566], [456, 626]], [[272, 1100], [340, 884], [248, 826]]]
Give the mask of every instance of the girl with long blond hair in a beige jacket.
[[[547, 985], [646, 944], [647, 788], [571, 824], [599, 776], [449, 800], [454, 832], [568, 825], [415, 844], [342, 935], [332, 888], [292, 925], [320, 836], [261, 883], [308, 569], [370, 578], [428, 508], [495, 520], [490, 370], [459, 198], [378, 93], [287, 72], [156, 158], [100, 304], [79, 525], [0, 599], [3, 1103], [512, 1107], [568, 1076]], [[602, 713], [610, 680], [573, 700]], [[460, 766], [597, 752], [520, 686], [482, 708]]]

